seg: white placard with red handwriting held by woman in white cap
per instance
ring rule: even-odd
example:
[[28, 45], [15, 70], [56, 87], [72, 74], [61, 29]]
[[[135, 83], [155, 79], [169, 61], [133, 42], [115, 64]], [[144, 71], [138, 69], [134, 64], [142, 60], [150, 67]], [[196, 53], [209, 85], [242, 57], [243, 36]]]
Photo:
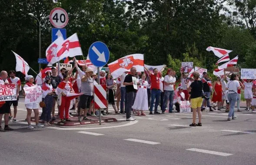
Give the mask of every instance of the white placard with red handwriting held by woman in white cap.
[[42, 101], [42, 89], [41, 86], [31, 86], [23, 88], [25, 91], [25, 104], [39, 103]]

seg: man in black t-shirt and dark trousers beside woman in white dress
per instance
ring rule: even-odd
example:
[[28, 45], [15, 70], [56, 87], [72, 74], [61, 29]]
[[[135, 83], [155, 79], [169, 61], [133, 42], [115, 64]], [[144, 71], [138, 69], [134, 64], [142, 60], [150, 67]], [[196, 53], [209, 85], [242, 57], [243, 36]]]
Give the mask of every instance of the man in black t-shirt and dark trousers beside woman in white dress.
[[130, 69], [130, 73], [125, 76], [125, 79], [123, 81], [123, 85], [125, 86], [126, 90], [126, 105], [125, 105], [125, 112], [126, 112], [126, 121], [134, 121], [133, 117], [131, 117], [131, 110], [133, 106], [133, 101], [136, 98], [136, 92], [137, 90], [133, 87], [133, 77], [136, 78], [136, 68], [132, 67]]

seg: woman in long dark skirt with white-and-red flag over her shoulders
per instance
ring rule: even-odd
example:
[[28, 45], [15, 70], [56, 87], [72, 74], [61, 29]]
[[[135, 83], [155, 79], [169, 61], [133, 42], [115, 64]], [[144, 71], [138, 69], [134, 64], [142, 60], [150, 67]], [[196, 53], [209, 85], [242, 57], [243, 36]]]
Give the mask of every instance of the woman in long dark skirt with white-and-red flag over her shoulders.
[[47, 75], [45, 77], [45, 82], [42, 86], [43, 91], [43, 102], [45, 103], [45, 107], [43, 107], [43, 112], [40, 116], [40, 119], [43, 120], [44, 126], [50, 126], [50, 119], [51, 119], [51, 112], [52, 112], [52, 106], [53, 106], [53, 95], [55, 92], [53, 92], [53, 86], [51, 85], [52, 77], [50, 75]]

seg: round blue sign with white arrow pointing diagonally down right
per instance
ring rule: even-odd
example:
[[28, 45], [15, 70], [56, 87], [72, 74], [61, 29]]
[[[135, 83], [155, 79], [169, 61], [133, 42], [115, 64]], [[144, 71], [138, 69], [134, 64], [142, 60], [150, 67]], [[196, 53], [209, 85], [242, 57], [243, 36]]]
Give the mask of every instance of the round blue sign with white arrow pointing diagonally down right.
[[105, 43], [97, 41], [90, 46], [89, 58], [94, 66], [101, 67], [106, 65], [110, 59], [110, 51]]

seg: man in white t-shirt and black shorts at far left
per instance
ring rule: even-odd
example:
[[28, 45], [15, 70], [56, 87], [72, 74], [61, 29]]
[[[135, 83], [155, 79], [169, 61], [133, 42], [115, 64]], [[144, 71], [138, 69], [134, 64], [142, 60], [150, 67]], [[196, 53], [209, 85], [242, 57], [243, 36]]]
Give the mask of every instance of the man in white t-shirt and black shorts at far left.
[[20, 86], [21, 86], [21, 82], [20, 82], [20, 78], [15, 76], [15, 71], [14, 70], [10, 70], [9, 71], [9, 75], [10, 78], [7, 79], [9, 83], [13, 83], [16, 84], [16, 95], [17, 95], [17, 100], [15, 101], [10, 101], [10, 106], [13, 105], [13, 113], [14, 116], [12, 115], [12, 112], [10, 111], [10, 115], [9, 115], [9, 121], [12, 119], [13, 117], [13, 122], [16, 122], [16, 115], [17, 115], [17, 106], [18, 106], [18, 101], [19, 101], [19, 92], [20, 92]]

